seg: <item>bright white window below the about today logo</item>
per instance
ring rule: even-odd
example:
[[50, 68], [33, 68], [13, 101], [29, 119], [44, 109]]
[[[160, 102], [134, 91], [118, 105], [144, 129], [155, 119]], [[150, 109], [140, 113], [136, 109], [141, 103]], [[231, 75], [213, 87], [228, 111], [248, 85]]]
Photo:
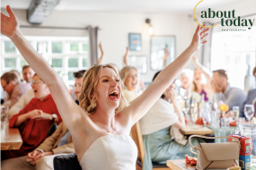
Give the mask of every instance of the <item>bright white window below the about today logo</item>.
[[213, 34], [211, 70], [224, 69], [233, 87], [244, 89], [244, 77], [255, 67], [255, 29]]

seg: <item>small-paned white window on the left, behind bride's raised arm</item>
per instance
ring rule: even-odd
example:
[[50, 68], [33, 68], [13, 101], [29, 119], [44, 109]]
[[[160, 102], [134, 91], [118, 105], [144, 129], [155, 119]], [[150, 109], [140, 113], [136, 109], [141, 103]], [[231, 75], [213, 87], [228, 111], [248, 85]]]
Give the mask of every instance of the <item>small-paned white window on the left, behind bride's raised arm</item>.
[[[88, 56], [88, 38], [73, 37], [26, 37], [31, 46], [42, 55], [66, 83], [74, 86], [73, 72], [87, 70], [90, 67]], [[1, 37], [1, 75], [4, 72], [17, 70], [22, 72], [22, 66], [27, 62], [23, 59], [13, 42]]]

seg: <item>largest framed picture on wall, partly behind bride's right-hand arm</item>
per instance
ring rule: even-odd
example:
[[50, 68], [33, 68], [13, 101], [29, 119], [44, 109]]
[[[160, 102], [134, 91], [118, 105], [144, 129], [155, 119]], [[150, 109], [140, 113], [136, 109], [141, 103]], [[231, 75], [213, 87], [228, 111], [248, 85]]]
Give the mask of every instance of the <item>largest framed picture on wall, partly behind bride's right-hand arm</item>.
[[163, 70], [175, 59], [175, 36], [152, 36], [150, 47], [150, 67], [153, 71]]

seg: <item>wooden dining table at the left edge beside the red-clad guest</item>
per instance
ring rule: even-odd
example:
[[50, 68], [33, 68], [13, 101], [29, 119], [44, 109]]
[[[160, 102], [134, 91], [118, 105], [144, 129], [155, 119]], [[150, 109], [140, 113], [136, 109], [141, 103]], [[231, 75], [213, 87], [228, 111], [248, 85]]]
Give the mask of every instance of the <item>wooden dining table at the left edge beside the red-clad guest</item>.
[[1, 150], [20, 149], [22, 136], [18, 128], [10, 128], [8, 123], [1, 124]]

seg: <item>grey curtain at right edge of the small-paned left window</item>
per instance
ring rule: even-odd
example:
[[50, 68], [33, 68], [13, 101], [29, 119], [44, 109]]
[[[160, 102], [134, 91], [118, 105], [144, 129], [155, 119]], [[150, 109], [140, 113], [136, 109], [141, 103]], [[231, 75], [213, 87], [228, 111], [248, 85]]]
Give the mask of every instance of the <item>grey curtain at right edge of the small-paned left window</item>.
[[93, 64], [97, 64], [97, 60], [98, 60], [98, 50], [97, 50], [98, 30], [99, 30], [98, 27], [93, 28], [92, 26], [88, 26], [91, 66], [93, 66]]

